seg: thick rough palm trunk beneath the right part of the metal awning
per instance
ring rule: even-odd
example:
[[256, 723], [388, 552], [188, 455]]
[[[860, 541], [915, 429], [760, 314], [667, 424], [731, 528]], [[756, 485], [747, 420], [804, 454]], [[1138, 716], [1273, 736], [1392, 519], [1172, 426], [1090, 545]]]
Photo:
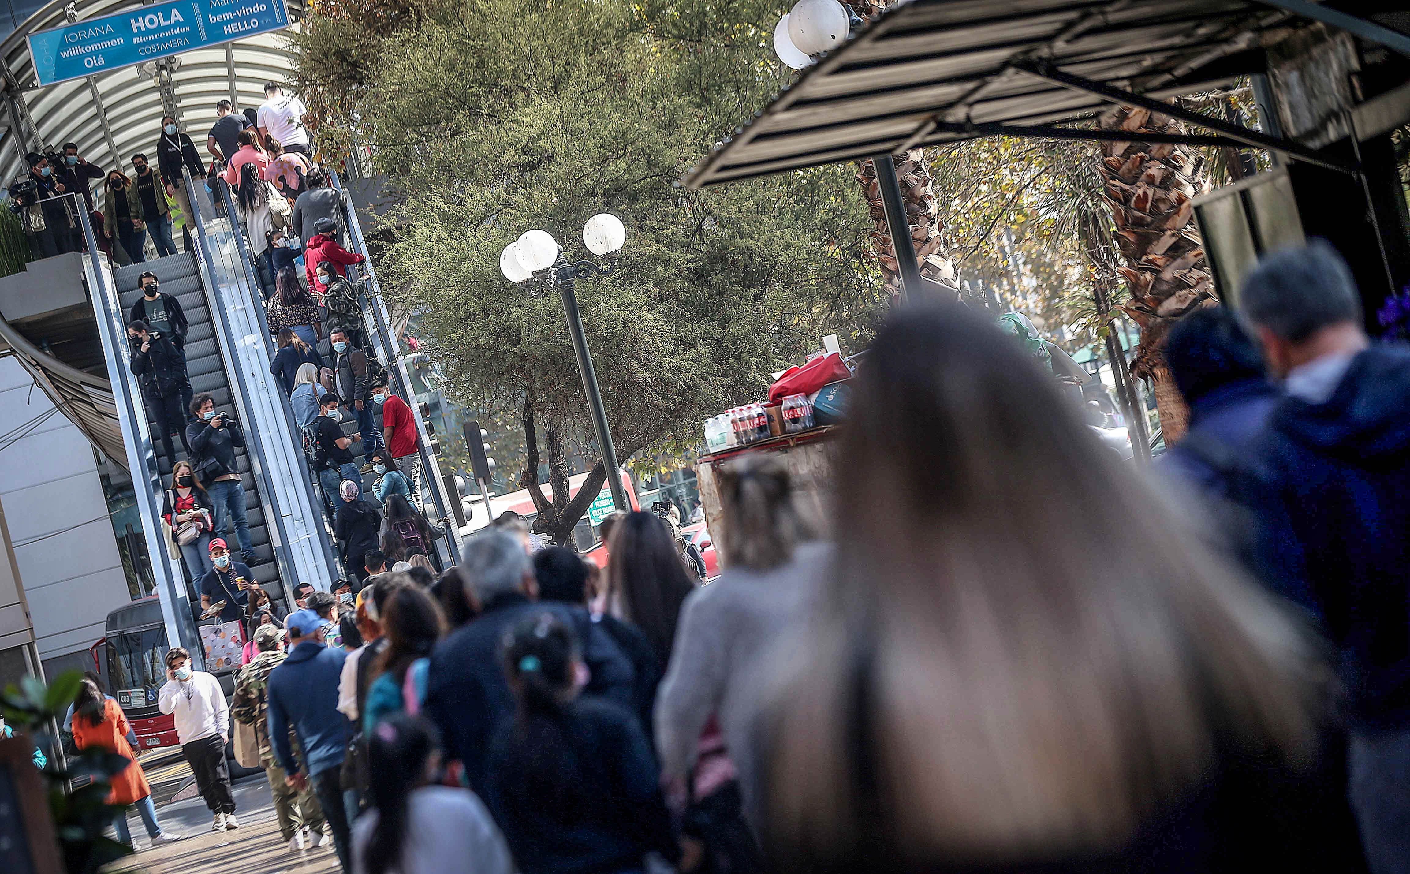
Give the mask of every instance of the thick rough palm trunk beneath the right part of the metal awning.
[[1152, 383], [1160, 429], [1173, 444], [1184, 436], [1190, 412], [1165, 365], [1165, 336], [1186, 314], [1217, 300], [1193, 221], [1191, 200], [1207, 176], [1190, 147], [1141, 140], [1142, 133], [1183, 134], [1175, 118], [1122, 106], [1104, 113], [1100, 124], [1131, 134], [1101, 145], [1097, 169], [1125, 262], [1120, 272], [1131, 286], [1131, 303], [1121, 309], [1141, 327], [1131, 372]]

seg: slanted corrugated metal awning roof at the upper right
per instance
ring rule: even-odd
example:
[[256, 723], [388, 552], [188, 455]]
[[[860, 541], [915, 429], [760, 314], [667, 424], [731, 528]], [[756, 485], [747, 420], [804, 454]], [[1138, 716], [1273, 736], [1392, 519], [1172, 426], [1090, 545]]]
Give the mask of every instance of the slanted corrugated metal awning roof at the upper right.
[[1245, 0], [909, 0], [804, 70], [685, 183], [1000, 133], [1050, 135], [1038, 125], [1114, 101], [1052, 76], [1152, 99], [1206, 90], [1253, 72], [1252, 58], [1232, 56], [1290, 18]]

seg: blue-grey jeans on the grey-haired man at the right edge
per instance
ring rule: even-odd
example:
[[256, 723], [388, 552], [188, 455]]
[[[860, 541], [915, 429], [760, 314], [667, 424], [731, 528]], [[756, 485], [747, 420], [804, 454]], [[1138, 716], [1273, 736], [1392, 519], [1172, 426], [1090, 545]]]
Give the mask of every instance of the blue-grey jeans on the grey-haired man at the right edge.
[[1371, 874], [1410, 873], [1410, 729], [1352, 730], [1347, 771]]

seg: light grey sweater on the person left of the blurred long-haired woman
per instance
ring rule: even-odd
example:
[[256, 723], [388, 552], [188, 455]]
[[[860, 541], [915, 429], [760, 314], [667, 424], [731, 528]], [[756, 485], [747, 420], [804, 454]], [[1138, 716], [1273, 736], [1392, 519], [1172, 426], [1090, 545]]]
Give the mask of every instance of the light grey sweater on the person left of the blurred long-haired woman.
[[671, 664], [656, 695], [663, 778], [689, 774], [701, 730], [718, 715], [740, 787], [747, 792], [754, 785], [747, 739], [763, 654], [802, 619], [830, 554], [830, 544], [804, 544], [777, 568], [729, 568], [685, 599]]

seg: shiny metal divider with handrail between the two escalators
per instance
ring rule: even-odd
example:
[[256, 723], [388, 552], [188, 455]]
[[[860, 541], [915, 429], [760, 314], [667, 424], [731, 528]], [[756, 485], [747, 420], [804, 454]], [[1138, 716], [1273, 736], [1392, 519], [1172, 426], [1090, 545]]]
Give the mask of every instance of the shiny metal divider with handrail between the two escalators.
[[[283, 523], [283, 513], [279, 506], [279, 495], [269, 479], [269, 464], [268, 455], [265, 453], [264, 437], [259, 434], [261, 429], [255, 427], [255, 423], [250, 414], [250, 402], [252, 396], [247, 374], [244, 368], [240, 367], [240, 359], [235, 354], [237, 344], [240, 338], [234, 336], [230, 327], [230, 321], [226, 319], [226, 313], [220, 303], [220, 286], [212, 272], [216, 264], [216, 255], [210, 245], [210, 237], [206, 231], [206, 223], [200, 214], [200, 200], [196, 196], [196, 187], [192, 182], [190, 172], [182, 168], [183, 182], [186, 190], [190, 195], [188, 200], [190, 202], [190, 217], [196, 224], [196, 233], [192, 238], [196, 240], [196, 264], [200, 269], [202, 279], [206, 285], [206, 297], [210, 312], [212, 327], [220, 337], [220, 354], [226, 369], [226, 378], [230, 383], [231, 403], [240, 410], [240, 417], [245, 423], [245, 453], [250, 457], [250, 475], [255, 479], [258, 486], [258, 498], [261, 509], [264, 510], [265, 531], [271, 534], [269, 546], [274, 550], [275, 562], [279, 567], [279, 585], [283, 589], [283, 602], [293, 603], [293, 584], [295, 582], [312, 582], [317, 585], [314, 579], [300, 578], [293, 558], [289, 554], [290, 538]], [[230, 375], [234, 374], [234, 379], [230, 381]], [[327, 568], [324, 568], [324, 574]], [[324, 586], [329, 581], [323, 581]]]

